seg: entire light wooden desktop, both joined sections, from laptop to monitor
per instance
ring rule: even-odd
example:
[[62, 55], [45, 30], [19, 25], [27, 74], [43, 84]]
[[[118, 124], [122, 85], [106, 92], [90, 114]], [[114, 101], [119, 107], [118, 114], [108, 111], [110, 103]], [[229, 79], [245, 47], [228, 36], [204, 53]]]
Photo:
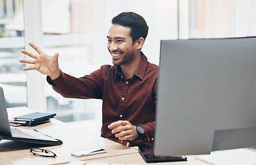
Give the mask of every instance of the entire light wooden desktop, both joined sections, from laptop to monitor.
[[[26, 108], [8, 109], [9, 118], [17, 115], [30, 113], [32, 110]], [[37, 129], [42, 133], [55, 137], [63, 141], [60, 146], [37, 146], [35, 144], [26, 144], [21, 142], [12, 142], [8, 140], [1, 140], [0, 142], [0, 164], [68, 164], [84, 160], [86, 163], [90, 162], [104, 162], [115, 164], [146, 164], [144, 159], [139, 154], [137, 147], [128, 148], [121, 144], [117, 144], [97, 135], [92, 135], [85, 131], [72, 128], [59, 120], [52, 119], [52, 122], [41, 124], [39, 126], [23, 126], [27, 129]], [[57, 154], [57, 157], [37, 157], [32, 155], [30, 148], [37, 146], [48, 149]], [[86, 148], [105, 148], [107, 153], [98, 155], [90, 155], [86, 157], [74, 157], [70, 153], [72, 151], [79, 151]], [[256, 149], [250, 149], [255, 151]], [[170, 165], [209, 165], [199, 159], [195, 159], [193, 155], [188, 155], [186, 162], [164, 162], [154, 163], [152, 165], [170, 164]]]

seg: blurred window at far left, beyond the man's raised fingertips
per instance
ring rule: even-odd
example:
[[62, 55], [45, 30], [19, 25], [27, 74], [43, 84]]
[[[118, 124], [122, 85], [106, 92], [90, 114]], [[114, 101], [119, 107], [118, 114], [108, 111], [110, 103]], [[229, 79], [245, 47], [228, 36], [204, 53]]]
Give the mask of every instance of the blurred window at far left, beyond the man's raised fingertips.
[[[26, 73], [22, 71], [23, 29], [15, 25], [23, 17], [22, 1], [0, 1], [0, 86], [7, 107], [27, 106]], [[20, 14], [21, 13], [21, 14]]]

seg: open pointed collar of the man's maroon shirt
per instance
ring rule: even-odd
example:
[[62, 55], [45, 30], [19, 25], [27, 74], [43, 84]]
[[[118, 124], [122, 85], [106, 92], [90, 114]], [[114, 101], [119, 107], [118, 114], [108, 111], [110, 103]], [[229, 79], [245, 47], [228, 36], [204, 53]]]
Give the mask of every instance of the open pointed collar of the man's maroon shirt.
[[[139, 62], [139, 67], [137, 67], [134, 76], [137, 76], [141, 80], [144, 79], [144, 75], [146, 72], [146, 67], [148, 64], [148, 58], [144, 55], [144, 53], [141, 52], [141, 61]], [[124, 74], [121, 72], [121, 68], [118, 66], [116, 67], [117, 76], [123, 76]]]

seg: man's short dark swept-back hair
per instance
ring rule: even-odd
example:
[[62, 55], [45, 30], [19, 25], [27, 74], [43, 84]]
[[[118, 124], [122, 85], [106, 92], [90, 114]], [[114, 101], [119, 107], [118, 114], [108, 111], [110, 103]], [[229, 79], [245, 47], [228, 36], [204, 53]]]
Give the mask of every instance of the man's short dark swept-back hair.
[[146, 39], [148, 35], [148, 25], [145, 19], [135, 12], [121, 12], [112, 19], [112, 24], [129, 27], [132, 43], [135, 43], [140, 37]]

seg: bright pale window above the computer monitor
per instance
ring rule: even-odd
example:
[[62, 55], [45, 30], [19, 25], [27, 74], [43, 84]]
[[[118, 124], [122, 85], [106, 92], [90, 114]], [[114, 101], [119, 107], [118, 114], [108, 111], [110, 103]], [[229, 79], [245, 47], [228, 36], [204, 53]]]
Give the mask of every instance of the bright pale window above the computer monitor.
[[189, 38], [255, 36], [255, 0], [190, 0]]

